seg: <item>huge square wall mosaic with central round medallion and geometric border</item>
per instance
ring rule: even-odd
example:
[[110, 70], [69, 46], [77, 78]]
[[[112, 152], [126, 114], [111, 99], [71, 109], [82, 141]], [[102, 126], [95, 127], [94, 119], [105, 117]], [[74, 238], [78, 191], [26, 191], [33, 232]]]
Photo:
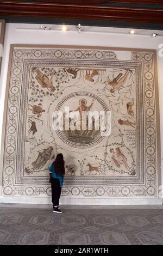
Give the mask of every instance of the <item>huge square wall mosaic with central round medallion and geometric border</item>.
[[[125, 49], [130, 60], [120, 60], [116, 51], [122, 49], [15, 45], [12, 50], [3, 196], [51, 196], [48, 166], [62, 153], [63, 196], [158, 197], [155, 51]], [[53, 111], [79, 109], [82, 99], [87, 109], [111, 112], [109, 137], [52, 129]]]

